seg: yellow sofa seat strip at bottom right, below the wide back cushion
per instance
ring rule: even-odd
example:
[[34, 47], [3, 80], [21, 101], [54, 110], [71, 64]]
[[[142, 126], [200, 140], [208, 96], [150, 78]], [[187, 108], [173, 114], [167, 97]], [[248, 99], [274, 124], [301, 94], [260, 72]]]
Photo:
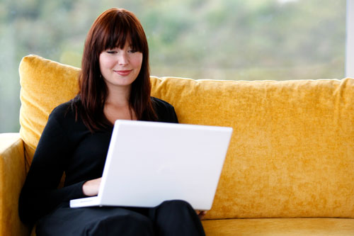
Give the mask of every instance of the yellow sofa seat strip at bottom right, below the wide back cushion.
[[263, 218], [202, 220], [212, 235], [354, 235], [354, 219]]

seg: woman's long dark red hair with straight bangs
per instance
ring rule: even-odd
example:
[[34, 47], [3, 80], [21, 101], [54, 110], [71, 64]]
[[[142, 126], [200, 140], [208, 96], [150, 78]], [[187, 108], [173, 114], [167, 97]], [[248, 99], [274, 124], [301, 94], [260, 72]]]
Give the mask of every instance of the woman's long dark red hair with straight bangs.
[[[112, 125], [103, 113], [108, 88], [101, 77], [99, 56], [107, 49], [122, 49], [131, 40], [133, 50], [142, 52], [142, 67], [132, 83], [129, 105], [138, 120], [156, 120], [150, 99], [149, 47], [141, 23], [125, 9], [108, 9], [93, 22], [87, 34], [79, 75], [79, 94], [74, 99], [79, 114], [91, 132]], [[79, 103], [79, 104], [78, 104]]]

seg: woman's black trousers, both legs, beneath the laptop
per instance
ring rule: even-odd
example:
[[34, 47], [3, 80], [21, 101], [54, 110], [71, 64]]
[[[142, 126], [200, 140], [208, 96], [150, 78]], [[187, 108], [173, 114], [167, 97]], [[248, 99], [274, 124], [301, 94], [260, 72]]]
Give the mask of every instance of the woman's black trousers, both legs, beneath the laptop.
[[69, 208], [59, 206], [40, 218], [40, 235], [205, 235], [195, 210], [185, 201], [155, 208]]

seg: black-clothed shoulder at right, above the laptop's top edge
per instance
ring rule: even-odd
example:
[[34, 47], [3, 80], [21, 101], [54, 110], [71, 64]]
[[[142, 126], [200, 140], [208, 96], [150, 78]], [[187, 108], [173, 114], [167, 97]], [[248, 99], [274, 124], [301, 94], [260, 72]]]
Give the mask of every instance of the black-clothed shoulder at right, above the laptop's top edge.
[[176, 111], [173, 106], [161, 99], [152, 98], [158, 121], [168, 123], [178, 123]]

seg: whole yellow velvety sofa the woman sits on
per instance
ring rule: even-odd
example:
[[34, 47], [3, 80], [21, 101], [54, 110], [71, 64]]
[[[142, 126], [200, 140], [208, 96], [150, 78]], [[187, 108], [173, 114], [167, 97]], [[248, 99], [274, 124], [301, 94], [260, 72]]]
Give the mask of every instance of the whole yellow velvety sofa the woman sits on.
[[[1, 235], [29, 234], [25, 174], [48, 115], [78, 91], [75, 67], [29, 55], [19, 72], [21, 130], [0, 135]], [[354, 79], [151, 82], [181, 123], [234, 128], [207, 235], [354, 235]]]

